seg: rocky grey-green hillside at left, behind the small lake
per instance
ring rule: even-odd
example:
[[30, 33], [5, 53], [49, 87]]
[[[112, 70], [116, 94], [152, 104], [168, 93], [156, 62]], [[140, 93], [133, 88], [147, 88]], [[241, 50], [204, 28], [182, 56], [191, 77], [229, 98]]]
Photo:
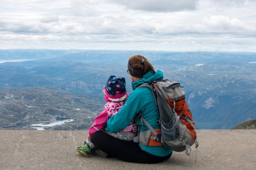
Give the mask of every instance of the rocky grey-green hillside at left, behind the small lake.
[[88, 129], [103, 105], [91, 96], [47, 87], [0, 87], [0, 128], [33, 130], [32, 124], [73, 119], [52, 130]]

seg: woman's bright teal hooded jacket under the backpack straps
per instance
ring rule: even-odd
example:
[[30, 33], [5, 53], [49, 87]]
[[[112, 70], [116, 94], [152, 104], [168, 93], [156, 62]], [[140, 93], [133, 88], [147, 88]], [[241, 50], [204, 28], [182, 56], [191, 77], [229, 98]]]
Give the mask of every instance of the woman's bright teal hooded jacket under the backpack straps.
[[[130, 94], [118, 114], [108, 119], [105, 130], [110, 133], [121, 131], [127, 127], [131, 119], [135, 119], [136, 121], [137, 132], [149, 130], [146, 125], [142, 126], [142, 122], [137, 118], [139, 112], [142, 113], [143, 118], [145, 118], [154, 129], [160, 129], [160, 124], [158, 123], [160, 115], [151, 90], [149, 88], [137, 88], [144, 83], [159, 79], [163, 79], [163, 73], [157, 70], [155, 74], [150, 71], [139, 81], [132, 82], [134, 91]], [[139, 146], [142, 148], [141, 144], [139, 144]], [[160, 157], [172, 153], [171, 149], [164, 148], [163, 146], [144, 146], [144, 151]]]

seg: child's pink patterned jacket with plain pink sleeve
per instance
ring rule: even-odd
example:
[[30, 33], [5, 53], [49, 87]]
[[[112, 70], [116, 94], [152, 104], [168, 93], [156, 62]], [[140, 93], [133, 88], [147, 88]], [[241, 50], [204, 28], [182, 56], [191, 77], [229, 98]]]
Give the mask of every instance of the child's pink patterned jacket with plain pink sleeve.
[[[106, 96], [105, 96], [106, 99]], [[108, 99], [108, 98], [107, 98]], [[107, 104], [104, 106], [104, 110], [99, 113], [99, 116], [96, 116], [93, 122], [93, 125], [89, 129], [89, 135], [93, 134], [96, 131], [102, 130], [108, 121], [108, 118], [116, 115], [119, 110], [123, 107], [123, 104], [125, 103], [126, 99], [123, 101], [109, 101]], [[131, 133], [136, 133], [137, 132], [137, 125], [135, 124], [134, 119], [131, 120], [130, 124], [121, 130], [121, 132], [131, 132]]]

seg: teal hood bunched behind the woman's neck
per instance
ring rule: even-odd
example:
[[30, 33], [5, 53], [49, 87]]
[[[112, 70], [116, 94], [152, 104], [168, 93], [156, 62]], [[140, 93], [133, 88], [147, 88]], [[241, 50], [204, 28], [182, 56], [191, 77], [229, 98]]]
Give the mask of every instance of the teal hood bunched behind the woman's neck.
[[155, 81], [155, 80], [160, 80], [163, 79], [163, 72], [161, 72], [160, 70], [157, 70], [157, 72], [155, 72], [155, 74], [151, 71], [149, 71], [148, 73], [146, 73], [142, 79], [132, 82], [131, 86], [133, 88], [133, 90], [135, 90], [137, 87], [139, 87], [140, 85], [144, 84], [144, 83], [148, 83], [150, 81]]

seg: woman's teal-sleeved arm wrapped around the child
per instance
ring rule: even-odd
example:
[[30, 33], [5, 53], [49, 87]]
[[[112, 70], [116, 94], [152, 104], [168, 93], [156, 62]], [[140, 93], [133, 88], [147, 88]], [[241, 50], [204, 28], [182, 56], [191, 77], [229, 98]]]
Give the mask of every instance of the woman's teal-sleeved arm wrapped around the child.
[[131, 120], [136, 116], [142, 107], [146, 104], [145, 100], [141, 100], [139, 90], [133, 91], [124, 106], [119, 112], [108, 119], [106, 131], [110, 133], [116, 133], [127, 127]]

